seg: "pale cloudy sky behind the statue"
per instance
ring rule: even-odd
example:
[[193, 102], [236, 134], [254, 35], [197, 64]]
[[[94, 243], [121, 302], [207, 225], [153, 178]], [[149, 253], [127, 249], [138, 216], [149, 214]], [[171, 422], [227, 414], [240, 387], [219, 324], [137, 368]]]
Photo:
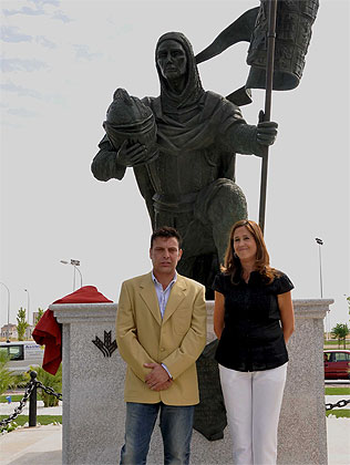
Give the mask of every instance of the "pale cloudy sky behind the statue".
[[[130, 170], [100, 183], [90, 164], [117, 87], [158, 94], [157, 38], [184, 32], [198, 53], [258, 0], [1, 2], [1, 262], [11, 322], [19, 307], [47, 309], [84, 285], [117, 300], [121, 282], [150, 269], [151, 226]], [[279, 136], [270, 151], [266, 241], [294, 298], [320, 296], [315, 237], [323, 239], [323, 297], [330, 324], [347, 322], [349, 294], [349, 3], [322, 0], [303, 78], [274, 92]], [[336, 31], [334, 31], [336, 29]], [[204, 87], [227, 95], [247, 78], [247, 44], [199, 65]], [[243, 107], [255, 124], [264, 92]], [[237, 184], [257, 219], [260, 162], [239, 156]], [[28, 289], [28, 292], [24, 291]], [[7, 292], [0, 287], [0, 324]]]

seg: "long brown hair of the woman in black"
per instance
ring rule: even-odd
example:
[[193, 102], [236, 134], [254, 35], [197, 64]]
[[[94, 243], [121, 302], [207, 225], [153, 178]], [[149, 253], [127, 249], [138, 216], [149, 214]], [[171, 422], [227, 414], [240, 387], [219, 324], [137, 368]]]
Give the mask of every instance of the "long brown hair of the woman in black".
[[228, 246], [226, 249], [222, 271], [230, 276], [230, 280], [233, 283], [238, 283], [239, 279], [241, 278], [241, 264], [239, 258], [235, 256], [234, 236], [236, 229], [243, 226], [245, 226], [251, 234], [257, 246], [255, 262], [256, 271], [266, 277], [268, 282], [272, 282], [276, 276], [278, 276], [278, 271], [270, 267], [270, 257], [266, 248], [260, 226], [250, 219], [243, 219], [240, 221], [235, 223], [235, 225], [233, 226], [229, 234]]

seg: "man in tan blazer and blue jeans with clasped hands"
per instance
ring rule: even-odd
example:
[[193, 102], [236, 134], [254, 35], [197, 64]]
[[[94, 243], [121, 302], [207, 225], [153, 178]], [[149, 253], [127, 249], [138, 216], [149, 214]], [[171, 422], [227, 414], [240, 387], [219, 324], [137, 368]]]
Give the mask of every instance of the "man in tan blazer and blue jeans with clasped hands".
[[121, 464], [145, 464], [159, 413], [165, 464], [188, 464], [194, 405], [199, 402], [196, 360], [206, 342], [204, 287], [176, 272], [176, 229], [151, 237], [152, 272], [122, 285], [116, 341], [127, 363], [125, 444]]

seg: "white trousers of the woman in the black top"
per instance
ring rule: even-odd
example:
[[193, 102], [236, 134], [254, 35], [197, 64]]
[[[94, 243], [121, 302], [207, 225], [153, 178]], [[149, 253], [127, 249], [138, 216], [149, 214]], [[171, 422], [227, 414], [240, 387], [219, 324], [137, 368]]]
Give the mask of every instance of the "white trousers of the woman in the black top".
[[219, 365], [235, 465], [276, 464], [287, 364], [253, 372]]

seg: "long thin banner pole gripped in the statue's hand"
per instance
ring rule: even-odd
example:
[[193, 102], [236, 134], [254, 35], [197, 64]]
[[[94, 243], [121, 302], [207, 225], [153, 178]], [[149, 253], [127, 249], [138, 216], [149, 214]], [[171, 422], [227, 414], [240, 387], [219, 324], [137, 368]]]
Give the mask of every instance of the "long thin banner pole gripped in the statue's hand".
[[[268, 8], [269, 17], [268, 17], [268, 31], [267, 31], [266, 94], [265, 94], [265, 111], [264, 111], [262, 121], [270, 121], [270, 117], [271, 117], [277, 0], [269, 0], [268, 4], [269, 4], [269, 8]], [[260, 206], [259, 206], [259, 226], [261, 228], [262, 234], [265, 229], [268, 152], [269, 152], [268, 146], [264, 147], [264, 155], [262, 155], [262, 161], [261, 161]]]

